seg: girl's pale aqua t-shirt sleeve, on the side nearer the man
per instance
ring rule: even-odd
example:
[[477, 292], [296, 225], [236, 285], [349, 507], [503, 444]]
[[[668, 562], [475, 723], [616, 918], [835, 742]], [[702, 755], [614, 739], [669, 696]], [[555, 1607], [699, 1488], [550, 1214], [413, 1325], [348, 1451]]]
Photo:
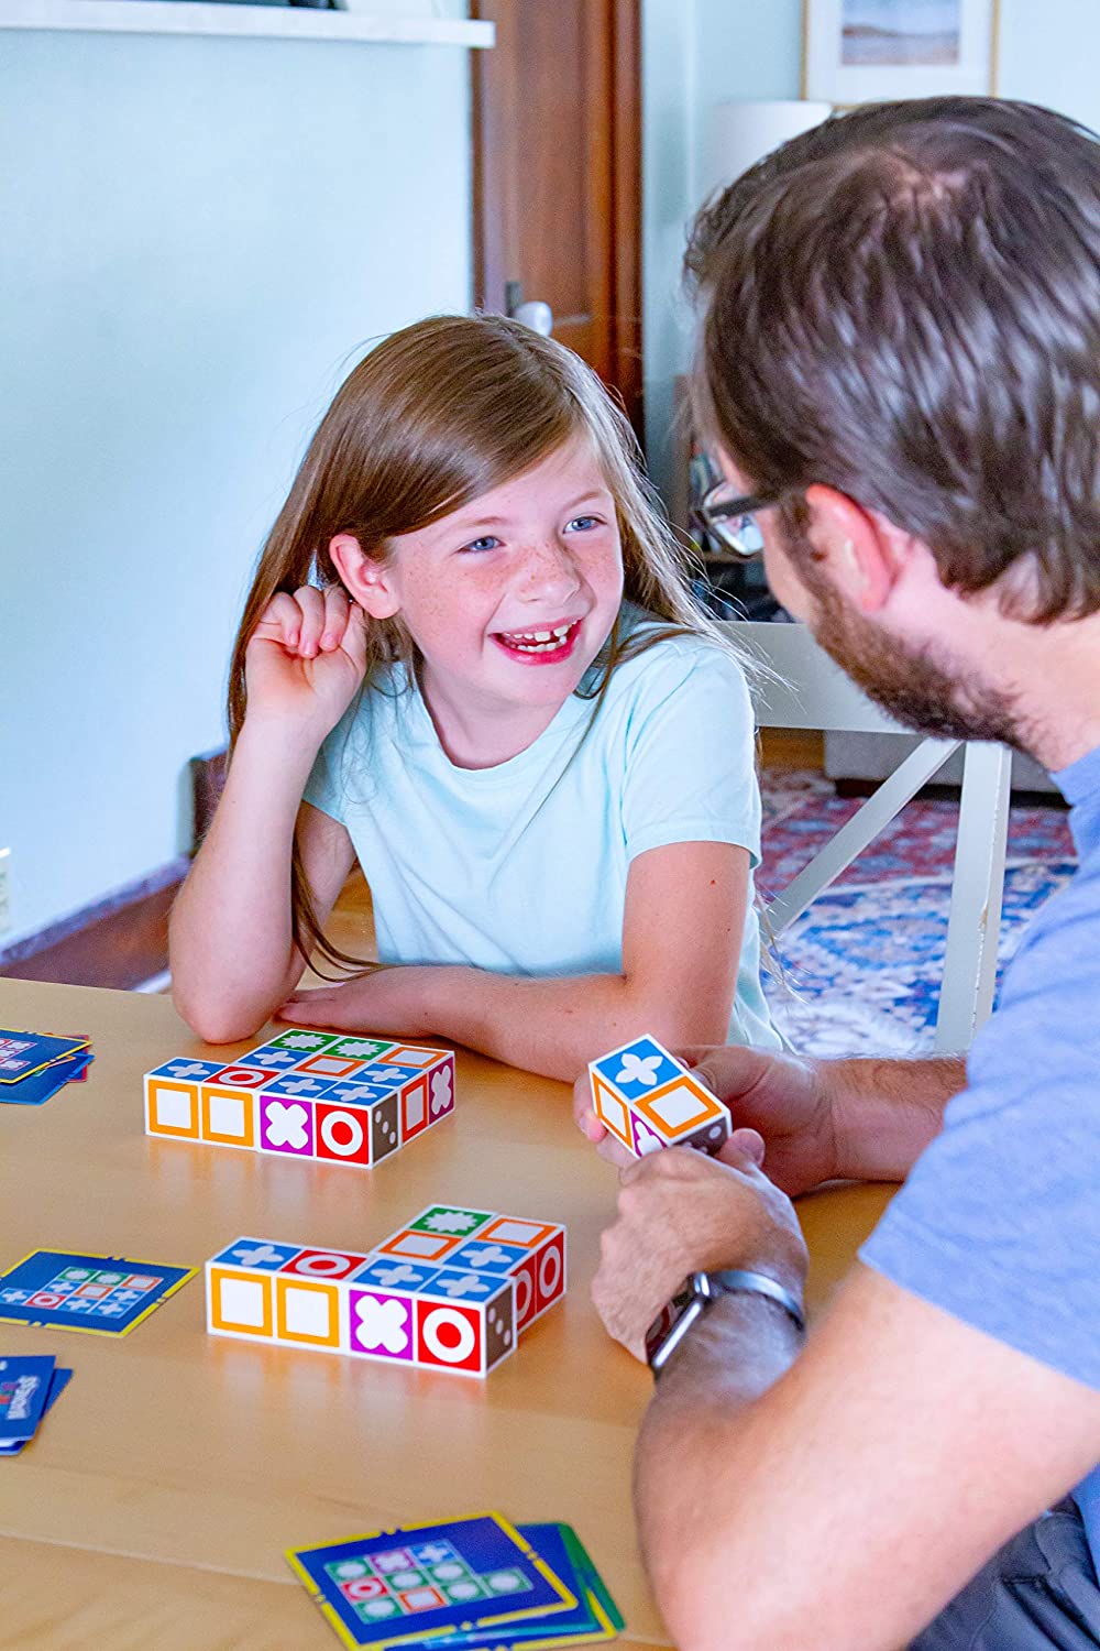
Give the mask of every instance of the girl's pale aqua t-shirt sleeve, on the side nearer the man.
[[[656, 644], [651, 655], [658, 655]], [[731, 842], [760, 860], [752, 703], [737, 660], [707, 644], [635, 660], [625, 738], [627, 859], [673, 842]]]

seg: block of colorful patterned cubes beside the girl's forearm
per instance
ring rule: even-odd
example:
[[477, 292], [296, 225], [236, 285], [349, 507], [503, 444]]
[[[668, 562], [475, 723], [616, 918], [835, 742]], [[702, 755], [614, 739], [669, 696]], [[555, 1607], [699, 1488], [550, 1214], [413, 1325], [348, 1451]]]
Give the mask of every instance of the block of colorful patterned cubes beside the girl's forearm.
[[178, 1057], [145, 1073], [147, 1134], [360, 1169], [454, 1105], [450, 1050], [331, 1032], [282, 1032], [229, 1067]]

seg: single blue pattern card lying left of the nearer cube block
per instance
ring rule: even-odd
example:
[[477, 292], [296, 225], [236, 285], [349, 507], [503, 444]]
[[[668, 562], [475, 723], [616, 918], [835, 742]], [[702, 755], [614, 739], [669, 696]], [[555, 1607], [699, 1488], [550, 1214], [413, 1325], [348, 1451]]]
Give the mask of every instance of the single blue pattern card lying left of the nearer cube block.
[[0, 1321], [125, 1336], [198, 1268], [35, 1250], [0, 1273]]

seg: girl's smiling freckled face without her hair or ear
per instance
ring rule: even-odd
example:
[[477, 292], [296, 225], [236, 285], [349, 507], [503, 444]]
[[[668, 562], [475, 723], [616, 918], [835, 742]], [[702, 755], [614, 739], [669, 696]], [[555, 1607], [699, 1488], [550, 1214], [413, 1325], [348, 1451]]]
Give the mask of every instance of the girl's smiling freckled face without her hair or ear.
[[615, 500], [589, 442], [393, 540], [388, 584], [425, 692], [487, 708], [564, 703], [623, 589]]

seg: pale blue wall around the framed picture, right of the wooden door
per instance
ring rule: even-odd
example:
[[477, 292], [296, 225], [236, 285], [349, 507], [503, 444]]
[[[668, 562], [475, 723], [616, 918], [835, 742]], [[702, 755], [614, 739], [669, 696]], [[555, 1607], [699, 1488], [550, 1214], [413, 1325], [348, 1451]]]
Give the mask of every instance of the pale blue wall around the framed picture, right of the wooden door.
[[[686, 225], [716, 102], [798, 97], [801, 0], [642, 0], [646, 449], [671, 492], [673, 380], [691, 357], [679, 296]], [[1098, 0], [1001, 0], [998, 91], [1100, 129]]]

